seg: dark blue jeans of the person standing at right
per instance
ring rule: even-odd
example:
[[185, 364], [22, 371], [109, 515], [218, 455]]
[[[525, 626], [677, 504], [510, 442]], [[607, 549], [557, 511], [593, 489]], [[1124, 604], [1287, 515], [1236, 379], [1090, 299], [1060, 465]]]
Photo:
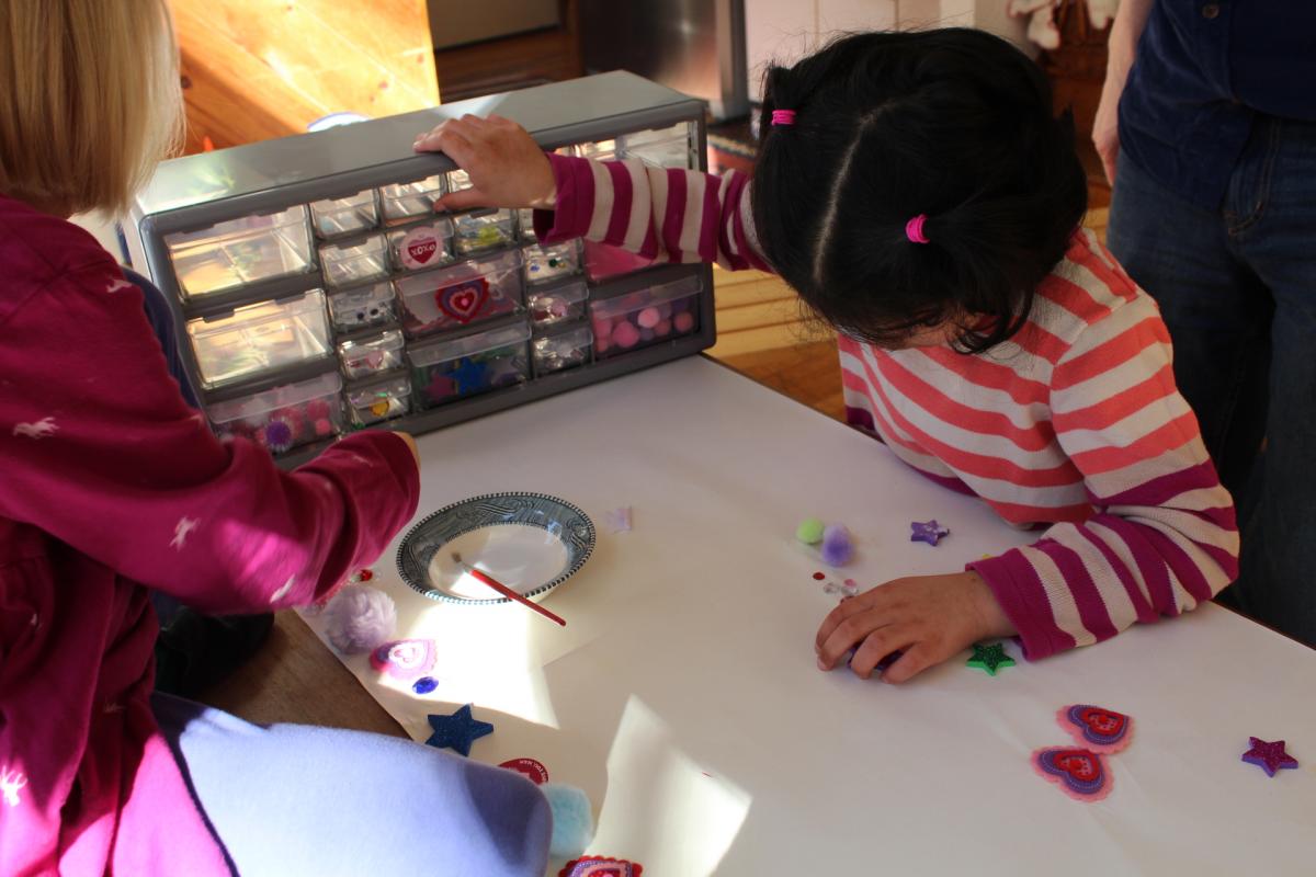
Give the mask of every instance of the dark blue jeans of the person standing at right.
[[1316, 646], [1316, 124], [1258, 120], [1217, 210], [1121, 156], [1108, 235], [1238, 506], [1236, 605]]

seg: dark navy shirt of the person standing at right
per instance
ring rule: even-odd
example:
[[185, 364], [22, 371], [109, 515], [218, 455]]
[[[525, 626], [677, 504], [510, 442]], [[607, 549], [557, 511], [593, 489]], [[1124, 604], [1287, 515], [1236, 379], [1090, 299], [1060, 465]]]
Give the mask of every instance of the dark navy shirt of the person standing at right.
[[1316, 0], [1155, 0], [1120, 99], [1120, 150], [1220, 206], [1258, 120], [1316, 121]]

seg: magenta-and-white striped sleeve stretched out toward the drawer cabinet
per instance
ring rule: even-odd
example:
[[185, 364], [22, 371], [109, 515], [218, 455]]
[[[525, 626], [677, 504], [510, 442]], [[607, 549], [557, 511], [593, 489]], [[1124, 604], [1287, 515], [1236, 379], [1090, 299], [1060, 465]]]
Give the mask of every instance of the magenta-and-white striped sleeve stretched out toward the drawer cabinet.
[[534, 230], [545, 243], [583, 237], [658, 262], [771, 271], [754, 235], [744, 174], [716, 176], [636, 159], [592, 162], [557, 154], [549, 162], [557, 204], [534, 212]]

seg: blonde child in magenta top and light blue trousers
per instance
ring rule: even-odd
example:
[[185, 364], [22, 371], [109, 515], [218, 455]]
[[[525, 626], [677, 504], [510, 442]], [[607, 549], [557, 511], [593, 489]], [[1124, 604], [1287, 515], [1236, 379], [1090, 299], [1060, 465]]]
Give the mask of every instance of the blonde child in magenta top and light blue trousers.
[[175, 142], [175, 57], [163, 0], [0, 0], [0, 873], [538, 877], [547, 806], [509, 770], [151, 697], [149, 588], [309, 604], [418, 496], [393, 433], [291, 473], [218, 442], [67, 221]]

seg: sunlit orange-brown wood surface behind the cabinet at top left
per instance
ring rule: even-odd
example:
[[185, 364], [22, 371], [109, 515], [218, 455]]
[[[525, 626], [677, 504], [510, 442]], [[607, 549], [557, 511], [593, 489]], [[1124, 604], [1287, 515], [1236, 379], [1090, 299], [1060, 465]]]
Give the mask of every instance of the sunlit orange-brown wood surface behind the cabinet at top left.
[[425, 0], [170, 0], [187, 151], [438, 104]]

